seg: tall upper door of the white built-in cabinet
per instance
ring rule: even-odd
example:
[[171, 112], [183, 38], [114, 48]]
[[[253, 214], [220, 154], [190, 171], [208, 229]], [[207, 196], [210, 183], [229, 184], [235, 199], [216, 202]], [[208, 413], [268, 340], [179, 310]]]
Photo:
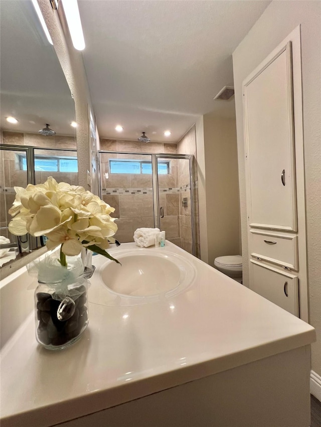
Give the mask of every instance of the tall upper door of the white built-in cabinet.
[[296, 231], [291, 45], [244, 85], [250, 226]]

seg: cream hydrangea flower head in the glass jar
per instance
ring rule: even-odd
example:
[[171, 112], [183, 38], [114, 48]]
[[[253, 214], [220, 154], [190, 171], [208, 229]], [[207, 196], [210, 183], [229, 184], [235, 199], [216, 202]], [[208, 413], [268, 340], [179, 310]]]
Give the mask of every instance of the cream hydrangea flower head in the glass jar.
[[115, 209], [98, 196], [81, 186], [58, 184], [53, 177], [26, 189], [15, 187], [15, 191], [16, 200], [9, 210], [14, 216], [9, 224], [12, 234], [45, 235], [48, 249], [61, 245], [61, 260], [62, 254], [77, 255], [82, 247], [114, 259], [105, 249], [115, 242], [112, 236], [117, 225], [110, 216]]

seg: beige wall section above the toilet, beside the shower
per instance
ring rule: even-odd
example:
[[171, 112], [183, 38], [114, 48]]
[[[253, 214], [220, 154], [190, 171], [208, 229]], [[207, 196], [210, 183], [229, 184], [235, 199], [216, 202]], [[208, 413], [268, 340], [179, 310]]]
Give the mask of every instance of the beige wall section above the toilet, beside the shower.
[[[202, 135], [203, 129], [203, 135]], [[239, 254], [235, 119], [208, 113], [196, 123], [201, 259]]]

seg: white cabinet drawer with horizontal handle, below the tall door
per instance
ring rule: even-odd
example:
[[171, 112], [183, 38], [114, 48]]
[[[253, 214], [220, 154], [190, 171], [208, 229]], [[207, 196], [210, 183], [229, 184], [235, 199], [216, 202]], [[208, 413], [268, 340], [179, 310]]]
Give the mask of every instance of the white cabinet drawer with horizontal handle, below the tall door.
[[251, 255], [298, 270], [297, 236], [251, 231]]

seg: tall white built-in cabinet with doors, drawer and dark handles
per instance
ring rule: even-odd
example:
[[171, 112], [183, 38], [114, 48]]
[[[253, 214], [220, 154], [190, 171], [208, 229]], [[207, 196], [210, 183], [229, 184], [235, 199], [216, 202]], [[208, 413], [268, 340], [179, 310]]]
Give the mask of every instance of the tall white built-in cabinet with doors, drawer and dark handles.
[[308, 321], [300, 30], [243, 82], [249, 286]]

